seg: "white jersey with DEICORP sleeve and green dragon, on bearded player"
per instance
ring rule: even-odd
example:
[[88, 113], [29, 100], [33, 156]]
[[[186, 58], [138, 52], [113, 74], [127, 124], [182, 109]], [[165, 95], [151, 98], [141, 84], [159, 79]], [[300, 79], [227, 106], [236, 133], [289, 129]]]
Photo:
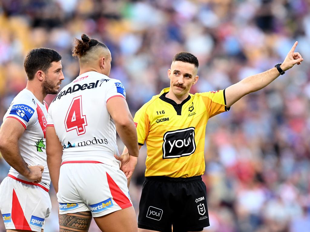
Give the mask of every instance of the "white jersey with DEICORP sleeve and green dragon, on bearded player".
[[[23, 89], [13, 99], [3, 118], [3, 121], [6, 118], [15, 118], [24, 126], [25, 131], [18, 140], [20, 154], [29, 166], [44, 166], [42, 181], [34, 185], [38, 185], [46, 191], [49, 190], [49, 185], [51, 183], [45, 151], [47, 109], [48, 106], [46, 102], [44, 102], [43, 105], [36, 97], [34, 97], [31, 91]], [[11, 144], [11, 146], [16, 145], [17, 144]], [[11, 167], [8, 176], [24, 183], [33, 184], [30, 180], [18, 173], [13, 167]]]

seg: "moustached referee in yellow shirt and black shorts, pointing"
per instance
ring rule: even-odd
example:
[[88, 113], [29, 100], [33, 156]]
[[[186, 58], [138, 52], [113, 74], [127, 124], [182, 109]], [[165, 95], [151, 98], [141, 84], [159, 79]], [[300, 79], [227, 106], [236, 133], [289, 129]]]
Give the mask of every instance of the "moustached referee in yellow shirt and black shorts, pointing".
[[[204, 145], [209, 118], [228, 111], [250, 92], [264, 88], [303, 58], [294, 52], [297, 41], [283, 63], [249, 76], [224, 90], [190, 94], [198, 81], [198, 60], [181, 52], [168, 70], [170, 87], [145, 103], [135, 114], [139, 148], [147, 146], [146, 180], [139, 204], [139, 232], [202, 231], [209, 226]], [[121, 170], [130, 181], [137, 157], [124, 153]]]

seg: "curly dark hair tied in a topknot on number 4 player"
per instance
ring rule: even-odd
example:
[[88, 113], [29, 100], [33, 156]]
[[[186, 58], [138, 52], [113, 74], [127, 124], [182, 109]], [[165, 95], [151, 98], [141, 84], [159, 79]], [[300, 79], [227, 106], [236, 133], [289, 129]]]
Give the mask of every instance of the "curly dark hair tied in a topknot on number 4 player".
[[87, 51], [93, 51], [97, 48], [108, 49], [108, 47], [96, 39], [90, 39], [86, 34], [82, 34], [82, 40], [74, 38], [76, 45], [72, 49], [72, 56], [81, 58], [87, 54]]

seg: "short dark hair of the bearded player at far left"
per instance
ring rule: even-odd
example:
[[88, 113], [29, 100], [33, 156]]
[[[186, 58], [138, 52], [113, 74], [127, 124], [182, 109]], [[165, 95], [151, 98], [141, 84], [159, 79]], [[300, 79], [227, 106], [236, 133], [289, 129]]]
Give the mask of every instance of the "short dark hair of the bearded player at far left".
[[38, 70], [46, 72], [51, 67], [52, 62], [58, 62], [61, 60], [61, 55], [53, 49], [49, 48], [35, 48], [28, 52], [25, 61], [24, 68], [28, 77], [28, 80], [33, 80], [35, 73]]

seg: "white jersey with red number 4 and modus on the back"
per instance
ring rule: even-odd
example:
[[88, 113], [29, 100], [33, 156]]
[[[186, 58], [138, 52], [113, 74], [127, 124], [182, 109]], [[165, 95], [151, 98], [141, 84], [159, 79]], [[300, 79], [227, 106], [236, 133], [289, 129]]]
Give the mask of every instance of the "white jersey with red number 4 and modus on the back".
[[[123, 97], [122, 83], [95, 71], [79, 75], [50, 105], [47, 126], [63, 145], [62, 162], [102, 162], [119, 167], [116, 128], [107, 101]], [[115, 106], [117, 107], [117, 106]]]

